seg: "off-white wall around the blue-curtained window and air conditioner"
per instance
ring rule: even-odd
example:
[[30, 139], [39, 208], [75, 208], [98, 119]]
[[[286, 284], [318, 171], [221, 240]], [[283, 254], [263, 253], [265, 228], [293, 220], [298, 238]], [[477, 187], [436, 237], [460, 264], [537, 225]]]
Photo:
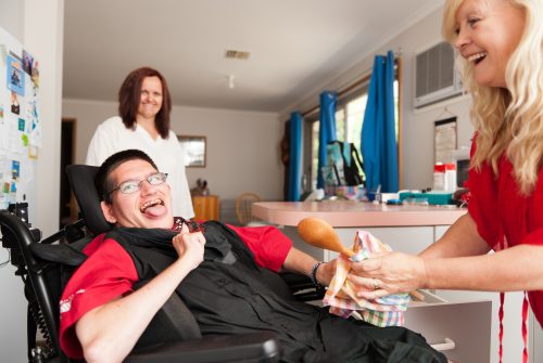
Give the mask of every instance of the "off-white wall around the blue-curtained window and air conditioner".
[[[442, 8], [433, 11], [427, 16], [413, 20], [409, 27], [401, 31], [396, 37], [390, 39], [382, 46], [371, 50], [350, 69], [338, 75], [323, 89], [341, 90], [345, 86], [367, 74], [376, 54], [386, 54], [393, 50], [401, 52], [403, 59], [402, 79], [404, 91], [403, 105], [403, 187], [424, 189], [432, 185], [433, 176], [433, 121], [457, 116], [458, 147], [469, 145], [473, 128], [469, 121], [469, 96], [463, 96], [445, 101], [441, 104], [428, 106], [420, 109], [413, 107], [414, 94], [414, 59], [415, 53], [442, 41], [441, 36]], [[320, 90], [306, 94], [294, 102], [288, 109], [281, 112], [282, 119], [288, 118], [288, 113], [293, 109], [305, 111], [314, 106], [318, 101]], [[445, 106], [450, 112], [445, 112]]]

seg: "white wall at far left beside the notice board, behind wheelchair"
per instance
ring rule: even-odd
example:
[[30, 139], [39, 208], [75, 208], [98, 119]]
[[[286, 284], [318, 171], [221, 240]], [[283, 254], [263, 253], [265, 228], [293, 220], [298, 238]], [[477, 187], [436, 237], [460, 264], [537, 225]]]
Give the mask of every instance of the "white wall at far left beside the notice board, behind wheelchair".
[[[64, 0], [2, 0], [0, 26], [18, 39], [40, 65], [42, 142], [30, 194], [30, 221], [46, 235], [59, 225], [60, 108]], [[39, 185], [38, 183], [39, 182]], [[0, 262], [8, 255], [2, 248]], [[25, 362], [26, 300], [11, 264], [0, 269], [0, 354], [2, 362]]]

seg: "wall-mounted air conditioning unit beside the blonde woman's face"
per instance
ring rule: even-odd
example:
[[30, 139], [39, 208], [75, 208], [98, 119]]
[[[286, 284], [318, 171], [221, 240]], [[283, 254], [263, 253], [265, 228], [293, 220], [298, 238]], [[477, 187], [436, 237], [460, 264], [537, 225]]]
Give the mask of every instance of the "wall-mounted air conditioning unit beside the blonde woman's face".
[[443, 41], [415, 54], [415, 108], [462, 94], [453, 47]]

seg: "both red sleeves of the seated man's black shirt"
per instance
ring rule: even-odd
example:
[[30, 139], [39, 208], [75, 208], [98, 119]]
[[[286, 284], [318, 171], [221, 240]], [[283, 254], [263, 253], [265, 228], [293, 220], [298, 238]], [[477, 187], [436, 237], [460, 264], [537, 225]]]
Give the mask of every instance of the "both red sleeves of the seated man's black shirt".
[[[256, 263], [279, 271], [292, 242], [274, 226], [236, 228], [253, 252]], [[88, 311], [117, 297], [130, 294], [138, 281], [130, 255], [114, 239], [97, 236], [84, 249], [89, 258], [77, 269], [61, 298], [60, 340], [62, 350], [73, 359], [83, 359], [75, 323]]]

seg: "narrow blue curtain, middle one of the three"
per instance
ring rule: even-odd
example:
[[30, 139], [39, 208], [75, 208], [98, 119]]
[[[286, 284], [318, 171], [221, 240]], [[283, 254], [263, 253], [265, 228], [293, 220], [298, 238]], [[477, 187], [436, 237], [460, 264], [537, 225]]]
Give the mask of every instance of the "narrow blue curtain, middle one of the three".
[[336, 133], [336, 103], [338, 93], [324, 91], [320, 93], [320, 128], [318, 131], [318, 170], [317, 187], [325, 186], [323, 178], [323, 167], [327, 165], [326, 145], [329, 142], [338, 140]]

